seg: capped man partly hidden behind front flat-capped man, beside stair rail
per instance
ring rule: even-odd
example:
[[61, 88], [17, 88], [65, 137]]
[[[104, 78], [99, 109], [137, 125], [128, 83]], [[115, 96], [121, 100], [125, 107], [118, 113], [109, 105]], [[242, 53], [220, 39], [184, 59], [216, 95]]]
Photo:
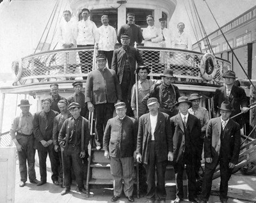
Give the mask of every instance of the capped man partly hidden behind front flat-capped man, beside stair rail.
[[72, 86], [73, 86], [75, 93], [68, 96], [68, 98], [67, 98], [68, 104], [70, 104], [72, 102], [79, 103], [79, 105], [81, 107], [80, 115], [85, 117], [86, 119], [88, 119], [89, 111], [87, 109], [87, 103], [85, 102], [84, 93], [82, 93], [83, 82], [75, 81], [72, 83]]

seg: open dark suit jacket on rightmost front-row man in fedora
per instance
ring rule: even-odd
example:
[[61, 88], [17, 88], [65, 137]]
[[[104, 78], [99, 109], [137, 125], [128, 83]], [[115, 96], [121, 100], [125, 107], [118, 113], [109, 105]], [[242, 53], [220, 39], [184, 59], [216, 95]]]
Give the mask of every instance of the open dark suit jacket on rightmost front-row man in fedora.
[[239, 124], [232, 119], [228, 120], [228, 123], [223, 130], [223, 139], [221, 140], [221, 118], [216, 117], [210, 119], [204, 140], [204, 157], [212, 158], [212, 163], [209, 165], [214, 169], [218, 163], [218, 158], [222, 149], [222, 158], [224, 163], [238, 162], [241, 134]]

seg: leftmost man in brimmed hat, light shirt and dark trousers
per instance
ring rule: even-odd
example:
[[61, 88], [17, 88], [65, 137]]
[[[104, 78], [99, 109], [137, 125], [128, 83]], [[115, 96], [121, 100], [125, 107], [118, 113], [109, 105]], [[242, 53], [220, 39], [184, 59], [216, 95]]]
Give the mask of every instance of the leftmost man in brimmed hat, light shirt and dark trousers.
[[[20, 116], [15, 117], [10, 129], [19, 158], [20, 183], [23, 187], [29, 176], [30, 183], [38, 183], [35, 172], [35, 149], [33, 136], [33, 115], [29, 112], [31, 104], [28, 100], [20, 100], [18, 107], [21, 109]], [[15, 135], [16, 133], [16, 135]], [[28, 170], [27, 163], [28, 162]]]

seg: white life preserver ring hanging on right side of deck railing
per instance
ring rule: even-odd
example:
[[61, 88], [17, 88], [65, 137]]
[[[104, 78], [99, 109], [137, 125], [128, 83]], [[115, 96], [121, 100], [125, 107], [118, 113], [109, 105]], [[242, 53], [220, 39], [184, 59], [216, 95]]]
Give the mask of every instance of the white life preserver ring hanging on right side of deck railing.
[[218, 65], [216, 57], [211, 53], [204, 54], [200, 63], [200, 72], [202, 78], [208, 81], [214, 79], [217, 72], [217, 68]]

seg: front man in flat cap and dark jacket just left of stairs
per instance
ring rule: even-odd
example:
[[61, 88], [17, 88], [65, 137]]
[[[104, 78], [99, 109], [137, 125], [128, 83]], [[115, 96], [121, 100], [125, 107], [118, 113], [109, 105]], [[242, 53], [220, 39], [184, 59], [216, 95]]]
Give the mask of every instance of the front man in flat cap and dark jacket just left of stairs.
[[61, 150], [63, 150], [64, 190], [61, 195], [70, 192], [72, 184], [71, 167], [74, 169], [78, 190], [86, 193], [83, 183], [83, 158], [88, 156], [88, 143], [90, 132], [88, 120], [80, 115], [79, 103], [68, 105], [72, 117], [66, 119], [61, 127], [58, 137]]

